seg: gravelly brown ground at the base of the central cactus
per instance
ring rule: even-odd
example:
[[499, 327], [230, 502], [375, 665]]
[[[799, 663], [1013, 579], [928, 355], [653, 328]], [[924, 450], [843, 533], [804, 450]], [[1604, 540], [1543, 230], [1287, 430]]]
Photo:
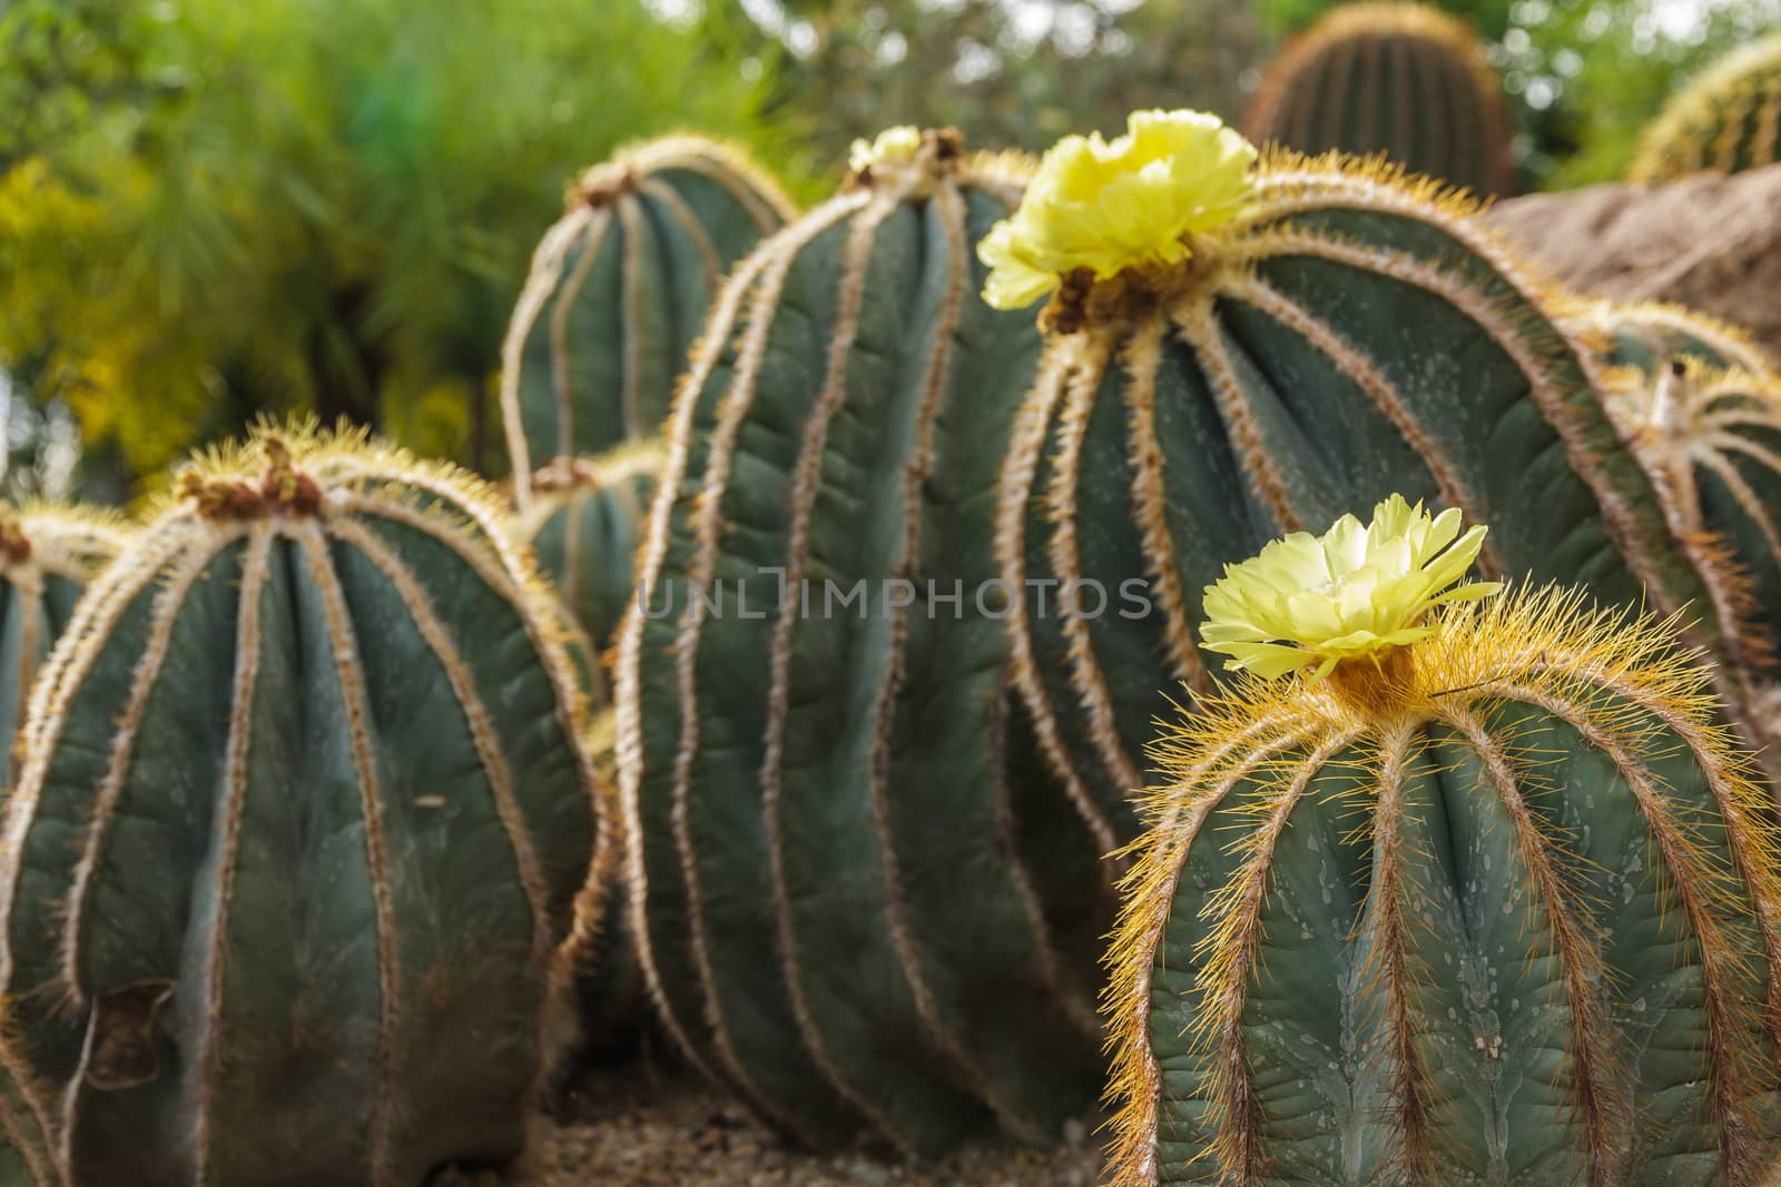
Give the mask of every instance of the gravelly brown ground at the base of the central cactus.
[[513, 1187], [1090, 1187], [1090, 1139], [1058, 1151], [980, 1146], [930, 1167], [789, 1150], [720, 1091], [647, 1061], [584, 1073]]

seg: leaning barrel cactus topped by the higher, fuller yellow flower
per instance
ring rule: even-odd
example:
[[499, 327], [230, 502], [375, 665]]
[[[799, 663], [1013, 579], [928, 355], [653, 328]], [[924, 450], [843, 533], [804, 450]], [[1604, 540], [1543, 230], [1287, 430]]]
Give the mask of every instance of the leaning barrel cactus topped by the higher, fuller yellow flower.
[[1211, 689], [1199, 591], [1395, 489], [1494, 523], [1492, 577], [1687, 603], [1722, 642], [1598, 361], [1471, 208], [1377, 166], [1252, 160], [1211, 116], [1140, 112], [1047, 153], [983, 244], [994, 304], [1054, 294], [997, 553], [1021, 692], [1108, 844], [1167, 689]]

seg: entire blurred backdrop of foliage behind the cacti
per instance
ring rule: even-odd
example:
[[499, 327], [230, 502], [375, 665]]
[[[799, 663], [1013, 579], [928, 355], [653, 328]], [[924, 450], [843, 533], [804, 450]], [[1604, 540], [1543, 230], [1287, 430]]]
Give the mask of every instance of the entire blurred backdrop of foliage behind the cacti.
[[[0, 0], [0, 418], [11, 495], [107, 502], [260, 413], [504, 466], [499, 347], [582, 167], [746, 142], [801, 199], [855, 137], [980, 148], [1236, 119], [1330, 0]], [[1781, 0], [1453, 0], [1521, 187], [1621, 176]], [[78, 425], [78, 427], [77, 427]]]

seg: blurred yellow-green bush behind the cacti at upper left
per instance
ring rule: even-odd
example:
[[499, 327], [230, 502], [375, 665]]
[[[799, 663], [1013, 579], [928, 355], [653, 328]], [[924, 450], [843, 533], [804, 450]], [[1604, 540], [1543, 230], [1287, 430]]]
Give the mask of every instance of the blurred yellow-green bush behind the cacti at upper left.
[[14, 0], [0, 365], [126, 473], [285, 409], [492, 461], [568, 178], [675, 126], [789, 144], [723, 32], [634, 0]]

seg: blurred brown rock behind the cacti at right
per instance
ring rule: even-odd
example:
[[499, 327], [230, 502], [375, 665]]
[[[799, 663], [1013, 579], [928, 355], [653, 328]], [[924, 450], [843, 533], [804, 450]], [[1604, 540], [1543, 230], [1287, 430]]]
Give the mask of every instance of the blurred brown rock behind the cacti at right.
[[1687, 304], [1781, 356], [1781, 166], [1530, 194], [1485, 217], [1569, 288]]

